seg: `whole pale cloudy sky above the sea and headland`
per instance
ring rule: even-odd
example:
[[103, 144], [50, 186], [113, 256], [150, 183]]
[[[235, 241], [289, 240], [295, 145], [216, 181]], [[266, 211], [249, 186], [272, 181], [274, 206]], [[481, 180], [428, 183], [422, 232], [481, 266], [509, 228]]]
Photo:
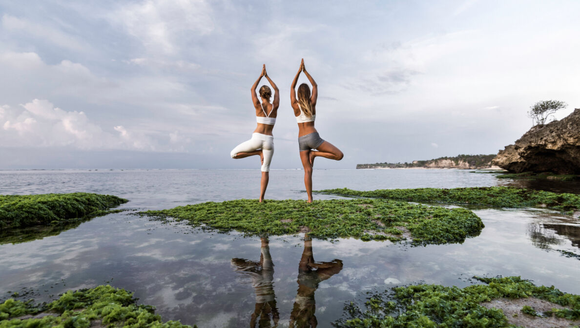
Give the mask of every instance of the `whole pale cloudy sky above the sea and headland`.
[[[342, 161], [495, 154], [536, 101], [580, 107], [580, 2], [0, 1], [0, 169], [259, 169], [262, 64], [280, 88], [272, 169], [299, 168], [289, 88]], [[299, 83], [306, 82], [302, 75]], [[263, 79], [262, 84], [267, 81]]]

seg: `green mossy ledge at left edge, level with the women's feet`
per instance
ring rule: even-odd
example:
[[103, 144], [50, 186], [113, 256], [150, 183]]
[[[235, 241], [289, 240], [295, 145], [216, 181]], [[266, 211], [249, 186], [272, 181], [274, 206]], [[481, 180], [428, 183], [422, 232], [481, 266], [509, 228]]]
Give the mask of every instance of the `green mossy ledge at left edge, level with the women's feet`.
[[67, 220], [101, 216], [128, 202], [112, 195], [73, 194], [0, 195], [0, 228], [62, 224]]

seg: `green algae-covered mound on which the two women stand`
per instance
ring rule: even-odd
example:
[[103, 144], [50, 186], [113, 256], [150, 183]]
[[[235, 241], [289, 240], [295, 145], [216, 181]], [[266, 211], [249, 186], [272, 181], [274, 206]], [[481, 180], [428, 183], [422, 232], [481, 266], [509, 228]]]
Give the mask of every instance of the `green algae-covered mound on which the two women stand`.
[[267, 201], [240, 199], [179, 206], [137, 214], [175, 218], [194, 227], [247, 235], [292, 235], [308, 232], [319, 239], [403, 240], [407, 230], [416, 244], [462, 243], [484, 225], [466, 209], [445, 209], [381, 199]]

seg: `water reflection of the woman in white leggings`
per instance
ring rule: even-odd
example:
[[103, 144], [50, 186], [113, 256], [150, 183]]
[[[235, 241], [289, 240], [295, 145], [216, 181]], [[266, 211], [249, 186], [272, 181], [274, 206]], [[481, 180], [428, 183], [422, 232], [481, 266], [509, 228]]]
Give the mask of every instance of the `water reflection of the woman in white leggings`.
[[231, 265], [235, 271], [247, 274], [252, 278], [252, 286], [256, 293], [256, 308], [252, 314], [250, 327], [271, 327], [270, 320], [273, 321], [274, 327], [278, 326], [280, 313], [276, 307], [276, 296], [274, 295], [274, 264], [270, 256], [270, 247], [268, 238], [262, 238], [260, 247], [260, 261], [249, 261], [243, 258], [232, 258]]

